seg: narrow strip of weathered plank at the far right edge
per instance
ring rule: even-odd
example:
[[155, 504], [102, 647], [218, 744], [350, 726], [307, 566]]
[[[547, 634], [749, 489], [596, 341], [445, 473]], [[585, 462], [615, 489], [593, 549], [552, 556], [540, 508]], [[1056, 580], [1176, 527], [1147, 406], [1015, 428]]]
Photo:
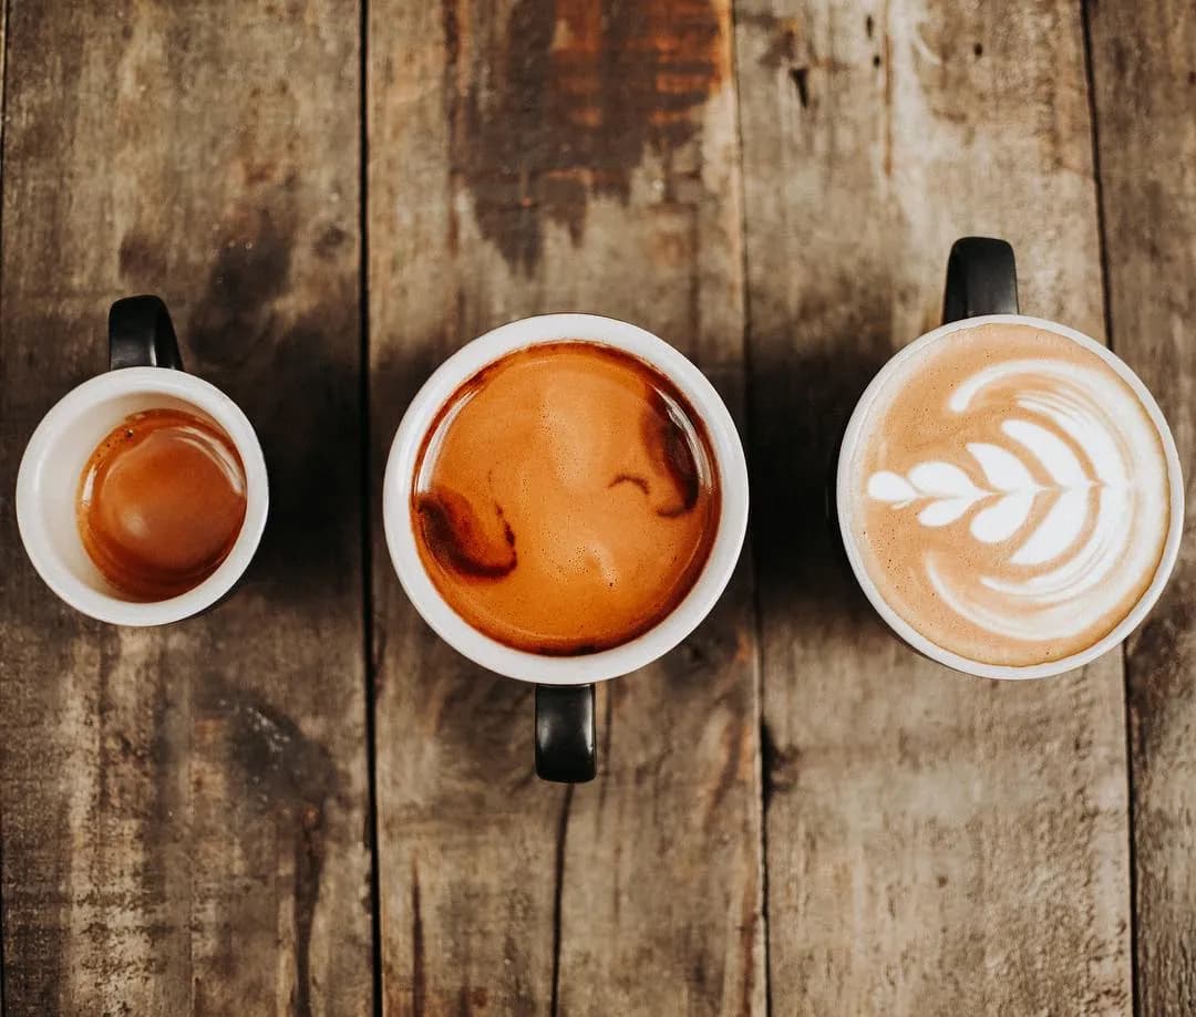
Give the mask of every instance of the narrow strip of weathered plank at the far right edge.
[[[1196, 10], [1088, 5], [1110, 339], [1196, 453]], [[1189, 520], [1191, 497], [1189, 496]], [[1142, 1013], [1196, 1012], [1196, 547], [1127, 653]]]

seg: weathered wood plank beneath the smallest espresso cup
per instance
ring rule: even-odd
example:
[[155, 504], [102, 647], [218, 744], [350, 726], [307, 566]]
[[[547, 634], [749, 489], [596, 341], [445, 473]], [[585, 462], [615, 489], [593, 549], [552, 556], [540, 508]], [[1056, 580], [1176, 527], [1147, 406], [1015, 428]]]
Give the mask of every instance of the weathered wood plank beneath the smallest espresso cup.
[[[11, 1013], [366, 1012], [359, 47], [312, 0], [10, 7], [0, 789]], [[164, 630], [37, 580], [12, 478], [161, 293], [262, 437], [237, 594]]]

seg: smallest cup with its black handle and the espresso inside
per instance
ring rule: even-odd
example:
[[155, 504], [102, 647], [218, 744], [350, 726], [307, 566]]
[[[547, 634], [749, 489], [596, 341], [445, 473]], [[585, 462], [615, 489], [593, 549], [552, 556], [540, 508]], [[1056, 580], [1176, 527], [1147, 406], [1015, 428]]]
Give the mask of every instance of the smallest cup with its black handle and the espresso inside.
[[[17, 522], [33, 568], [72, 607], [114, 625], [164, 625], [214, 605], [249, 566], [266, 527], [266, 460], [237, 404], [183, 370], [157, 296], [112, 305], [109, 367], [38, 423], [17, 474]], [[120, 461], [126, 439], [141, 449], [135, 462]], [[225, 474], [232, 494], [205, 498], [205, 484], [225, 483]], [[85, 509], [98, 498], [97, 476], [109, 479], [116, 503], [92, 519]], [[222, 516], [213, 521], [212, 510]], [[105, 521], [115, 534], [97, 532]], [[188, 538], [199, 551], [166, 546]]]

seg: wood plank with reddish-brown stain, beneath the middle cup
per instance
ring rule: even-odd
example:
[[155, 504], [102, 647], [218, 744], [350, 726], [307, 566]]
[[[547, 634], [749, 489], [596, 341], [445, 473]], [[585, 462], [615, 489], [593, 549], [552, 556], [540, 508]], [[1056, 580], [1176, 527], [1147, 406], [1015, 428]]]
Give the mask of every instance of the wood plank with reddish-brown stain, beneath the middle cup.
[[[370, 5], [374, 467], [409, 397], [490, 326], [645, 325], [743, 408], [725, 0]], [[600, 776], [532, 776], [532, 687], [435, 639], [374, 520], [390, 1013], [759, 1013], [751, 577], [602, 690]]]

